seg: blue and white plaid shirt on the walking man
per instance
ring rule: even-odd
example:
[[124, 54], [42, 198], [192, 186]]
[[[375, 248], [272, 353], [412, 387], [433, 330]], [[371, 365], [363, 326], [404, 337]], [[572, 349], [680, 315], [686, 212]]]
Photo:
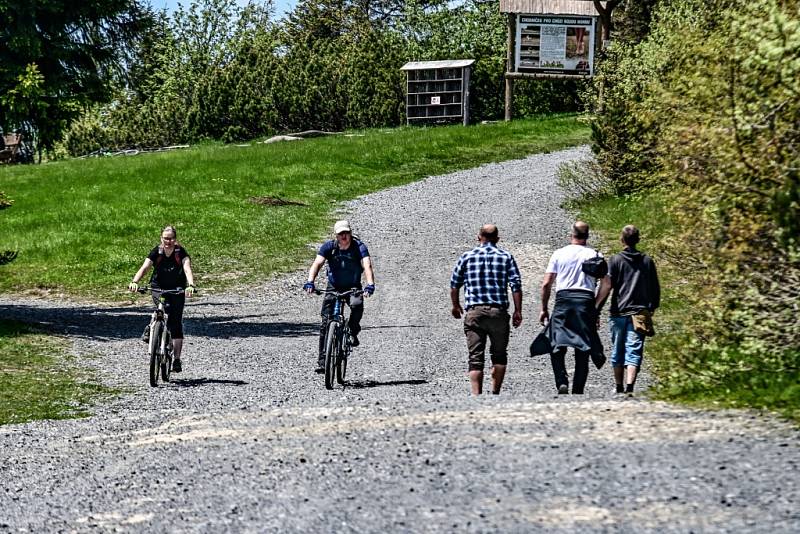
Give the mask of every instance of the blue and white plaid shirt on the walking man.
[[450, 287], [464, 286], [466, 308], [497, 304], [508, 308], [508, 290], [522, 291], [517, 262], [509, 252], [494, 243], [483, 243], [461, 255], [450, 276]]

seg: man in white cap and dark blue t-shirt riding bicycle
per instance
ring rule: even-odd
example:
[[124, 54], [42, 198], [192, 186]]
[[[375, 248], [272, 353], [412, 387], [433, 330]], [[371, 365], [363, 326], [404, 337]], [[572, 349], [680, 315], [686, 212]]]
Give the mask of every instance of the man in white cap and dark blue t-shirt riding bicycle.
[[[336, 291], [347, 291], [348, 289], [361, 289], [362, 273], [367, 279], [364, 287], [364, 294], [368, 297], [375, 292], [375, 278], [372, 273], [372, 261], [369, 257], [367, 245], [361, 240], [353, 237], [350, 223], [347, 221], [337, 221], [333, 225], [335, 239], [331, 239], [322, 244], [317, 252], [317, 257], [311, 264], [308, 271], [308, 281], [303, 285], [307, 293], [313, 293], [316, 288], [314, 280], [319, 274], [319, 270], [328, 262], [328, 289]], [[335, 295], [327, 293], [322, 301], [322, 324], [319, 330], [319, 357], [317, 359], [317, 373], [325, 372], [325, 333], [328, 330], [330, 315], [336, 302]], [[364, 315], [364, 301], [358, 297], [350, 298], [350, 344], [353, 347], [359, 345], [358, 333], [361, 331], [361, 317]]]

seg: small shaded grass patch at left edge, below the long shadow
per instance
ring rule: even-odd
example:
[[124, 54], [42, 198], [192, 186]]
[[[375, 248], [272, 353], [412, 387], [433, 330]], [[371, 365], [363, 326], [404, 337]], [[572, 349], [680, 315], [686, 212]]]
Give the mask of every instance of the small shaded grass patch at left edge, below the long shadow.
[[0, 321], [0, 425], [85, 416], [110, 393], [70, 361], [66, 340]]

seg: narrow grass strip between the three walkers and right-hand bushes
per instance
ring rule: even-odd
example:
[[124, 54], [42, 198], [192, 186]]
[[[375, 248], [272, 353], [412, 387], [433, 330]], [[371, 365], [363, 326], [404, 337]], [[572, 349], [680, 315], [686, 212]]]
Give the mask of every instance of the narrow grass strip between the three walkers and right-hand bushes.
[[[702, 407], [757, 408], [775, 411], [800, 422], [800, 374], [777, 374], [750, 366], [746, 372], [724, 374], [723, 380], [709, 382], [690, 373], [703, 368], [729, 368], [735, 364], [735, 349], [705, 352], [696, 361], [685, 326], [696, 314], [692, 302], [701, 300], [708, 289], [693, 279], [691, 272], [670, 261], [667, 241], [676, 228], [668, 215], [674, 196], [663, 192], [637, 194], [624, 198], [606, 198], [580, 203], [580, 217], [602, 234], [604, 252], [619, 252], [619, 233], [626, 224], [635, 224], [642, 232], [639, 247], [656, 259], [662, 287], [662, 305], [655, 316], [657, 335], [647, 341], [645, 356], [658, 378], [657, 397]], [[731, 355], [733, 353], [733, 356]], [[734, 361], [732, 362], [732, 358]], [[690, 365], [687, 365], [689, 363]]]

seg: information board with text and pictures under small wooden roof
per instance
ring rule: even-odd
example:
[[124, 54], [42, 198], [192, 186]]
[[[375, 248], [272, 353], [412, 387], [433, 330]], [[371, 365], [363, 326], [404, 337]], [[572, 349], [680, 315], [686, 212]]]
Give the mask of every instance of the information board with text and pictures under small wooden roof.
[[515, 72], [594, 73], [596, 17], [517, 15]]

